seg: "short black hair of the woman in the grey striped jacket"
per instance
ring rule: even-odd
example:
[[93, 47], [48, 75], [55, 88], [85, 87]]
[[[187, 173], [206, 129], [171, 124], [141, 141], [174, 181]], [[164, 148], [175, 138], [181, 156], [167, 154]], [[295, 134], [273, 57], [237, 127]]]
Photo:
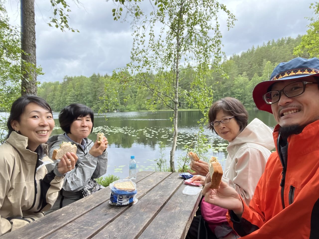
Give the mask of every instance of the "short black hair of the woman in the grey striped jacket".
[[94, 126], [93, 110], [87, 107], [86, 105], [82, 105], [82, 104], [71, 104], [63, 108], [63, 110], [59, 113], [60, 127], [65, 133], [69, 134], [71, 124], [73, 123], [73, 121], [78, 119], [78, 117], [85, 117], [87, 115], [90, 115], [91, 117], [91, 121], [92, 121], [91, 133], [92, 133], [93, 126]]

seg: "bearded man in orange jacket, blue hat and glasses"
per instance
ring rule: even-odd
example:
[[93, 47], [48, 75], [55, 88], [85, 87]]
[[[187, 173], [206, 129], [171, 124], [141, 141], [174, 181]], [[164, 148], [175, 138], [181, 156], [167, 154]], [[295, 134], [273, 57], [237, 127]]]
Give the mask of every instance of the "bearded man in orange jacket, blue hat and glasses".
[[319, 238], [319, 59], [280, 63], [256, 85], [258, 109], [274, 115], [276, 152], [269, 157], [249, 206], [226, 183], [203, 189], [205, 201], [228, 209], [242, 238]]

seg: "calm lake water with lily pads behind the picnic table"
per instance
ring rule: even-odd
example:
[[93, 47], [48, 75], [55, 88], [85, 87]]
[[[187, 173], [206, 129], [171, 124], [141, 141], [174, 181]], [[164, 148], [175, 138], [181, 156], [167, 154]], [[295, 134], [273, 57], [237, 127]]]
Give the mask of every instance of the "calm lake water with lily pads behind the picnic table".
[[[96, 139], [98, 132], [103, 132], [108, 138], [108, 174], [120, 178], [127, 177], [129, 173], [130, 156], [134, 155], [137, 162], [137, 170], [155, 170], [155, 159], [160, 158], [159, 142], [163, 142], [164, 158], [169, 166], [170, 150], [173, 141], [172, 125], [169, 120], [173, 116], [171, 111], [159, 112], [110, 112], [94, 116], [94, 129], [89, 138]], [[175, 169], [178, 165], [178, 157], [185, 157], [183, 150], [185, 144], [196, 141], [198, 132], [197, 121], [202, 117], [199, 111], [180, 111], [178, 115], [178, 141], [175, 152]], [[53, 114], [55, 127], [54, 134], [62, 134], [59, 127], [58, 113]], [[268, 112], [249, 111], [249, 122], [254, 118], [262, 120], [266, 125], [273, 128], [276, 125], [272, 114]], [[227, 152], [228, 142], [218, 135], [205, 129], [208, 144], [212, 149], [207, 156], [216, 156], [223, 164]], [[218, 149], [216, 149], [218, 147]], [[223, 165], [224, 166], [224, 165]]]

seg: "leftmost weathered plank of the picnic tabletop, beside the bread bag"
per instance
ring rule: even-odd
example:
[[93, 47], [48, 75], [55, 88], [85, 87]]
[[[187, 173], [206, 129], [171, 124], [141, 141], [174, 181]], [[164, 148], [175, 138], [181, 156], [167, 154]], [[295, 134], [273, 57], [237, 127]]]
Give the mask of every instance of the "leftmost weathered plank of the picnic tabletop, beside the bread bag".
[[[137, 179], [134, 179], [133, 181], [137, 183], [149, 176], [151, 176], [152, 178], [152, 174], [154, 174], [154, 172], [152, 171], [137, 172]], [[32, 223], [29, 223], [26, 226], [19, 228], [18, 230], [7, 233], [3, 235], [1, 239], [44, 238], [45, 236], [50, 235], [56, 230], [69, 224], [71, 221], [74, 221], [80, 216], [86, 214], [88, 211], [91, 211], [93, 208], [98, 207], [99, 205], [108, 201], [109, 198], [105, 197], [106, 194], [109, 195], [108, 187], [95, 192], [94, 195], [90, 195], [59, 210], [56, 210], [55, 212]], [[74, 208], [77, 209], [75, 210]], [[43, 230], [43, 228], [45, 228], [45, 230]], [[39, 231], [41, 231], [42, 233], [39, 234]]]

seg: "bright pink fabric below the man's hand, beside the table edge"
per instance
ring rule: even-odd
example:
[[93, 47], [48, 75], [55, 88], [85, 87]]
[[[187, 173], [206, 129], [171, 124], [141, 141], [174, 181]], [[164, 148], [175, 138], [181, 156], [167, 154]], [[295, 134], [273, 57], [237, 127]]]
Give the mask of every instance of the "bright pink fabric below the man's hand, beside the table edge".
[[226, 219], [227, 209], [205, 202], [204, 198], [202, 199], [200, 208], [202, 217], [208, 222], [209, 228], [212, 232], [214, 232], [216, 226], [221, 223], [226, 222], [226, 224], [228, 224]]

